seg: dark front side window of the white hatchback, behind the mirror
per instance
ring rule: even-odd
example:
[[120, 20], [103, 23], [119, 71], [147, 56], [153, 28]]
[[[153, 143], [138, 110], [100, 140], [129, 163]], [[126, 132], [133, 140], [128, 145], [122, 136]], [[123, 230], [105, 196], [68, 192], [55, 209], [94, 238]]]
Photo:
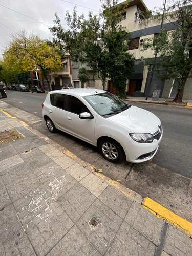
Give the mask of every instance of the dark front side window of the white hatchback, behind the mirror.
[[87, 106], [84, 105], [82, 101], [71, 95], [69, 95], [68, 110], [69, 112], [75, 113], [77, 115], [83, 112], [90, 113]]

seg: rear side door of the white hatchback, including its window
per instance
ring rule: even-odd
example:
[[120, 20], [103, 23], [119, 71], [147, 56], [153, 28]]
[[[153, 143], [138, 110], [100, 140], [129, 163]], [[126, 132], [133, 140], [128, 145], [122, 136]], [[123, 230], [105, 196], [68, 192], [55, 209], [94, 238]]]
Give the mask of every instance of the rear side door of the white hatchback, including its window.
[[50, 102], [49, 105], [49, 116], [53, 123], [55, 124], [56, 128], [67, 132], [67, 121], [66, 121], [66, 111], [64, 109], [65, 106], [66, 96], [65, 94], [61, 93], [52, 93], [50, 95]]

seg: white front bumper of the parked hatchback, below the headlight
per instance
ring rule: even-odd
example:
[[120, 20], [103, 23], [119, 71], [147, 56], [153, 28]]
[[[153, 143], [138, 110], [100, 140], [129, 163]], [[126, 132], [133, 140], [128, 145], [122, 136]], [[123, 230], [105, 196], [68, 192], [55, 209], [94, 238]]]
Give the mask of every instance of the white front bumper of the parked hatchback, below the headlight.
[[154, 139], [152, 143], [139, 143], [131, 141], [124, 143], [123, 149], [126, 155], [126, 161], [131, 163], [142, 163], [152, 159], [158, 151], [159, 144], [163, 137], [163, 129], [160, 138]]

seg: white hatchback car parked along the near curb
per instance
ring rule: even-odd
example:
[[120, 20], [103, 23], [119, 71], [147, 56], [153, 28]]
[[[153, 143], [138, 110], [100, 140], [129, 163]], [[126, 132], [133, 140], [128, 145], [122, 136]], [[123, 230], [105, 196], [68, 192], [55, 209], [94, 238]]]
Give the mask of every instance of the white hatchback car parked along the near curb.
[[141, 163], [153, 158], [162, 139], [161, 122], [151, 112], [91, 88], [47, 94], [42, 115], [50, 132], [59, 129], [99, 147], [110, 162]]

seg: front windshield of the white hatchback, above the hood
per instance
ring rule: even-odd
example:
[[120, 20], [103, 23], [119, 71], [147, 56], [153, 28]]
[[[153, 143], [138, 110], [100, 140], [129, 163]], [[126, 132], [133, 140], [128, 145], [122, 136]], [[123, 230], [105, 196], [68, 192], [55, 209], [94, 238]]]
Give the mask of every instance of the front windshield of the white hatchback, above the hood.
[[115, 115], [130, 108], [130, 105], [108, 92], [84, 96], [84, 99], [101, 116]]

